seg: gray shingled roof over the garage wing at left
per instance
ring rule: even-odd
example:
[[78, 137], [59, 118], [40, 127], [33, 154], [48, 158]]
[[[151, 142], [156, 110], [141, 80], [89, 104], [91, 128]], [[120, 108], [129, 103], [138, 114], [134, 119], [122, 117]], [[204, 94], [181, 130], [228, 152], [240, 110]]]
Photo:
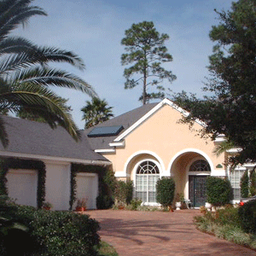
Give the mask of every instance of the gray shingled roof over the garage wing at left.
[[48, 124], [5, 116], [3, 120], [9, 136], [9, 146], [3, 148], [0, 143], [1, 151], [74, 160], [108, 161], [90, 148], [90, 143], [83, 132], [82, 140], [76, 143], [62, 127], [53, 130]]

